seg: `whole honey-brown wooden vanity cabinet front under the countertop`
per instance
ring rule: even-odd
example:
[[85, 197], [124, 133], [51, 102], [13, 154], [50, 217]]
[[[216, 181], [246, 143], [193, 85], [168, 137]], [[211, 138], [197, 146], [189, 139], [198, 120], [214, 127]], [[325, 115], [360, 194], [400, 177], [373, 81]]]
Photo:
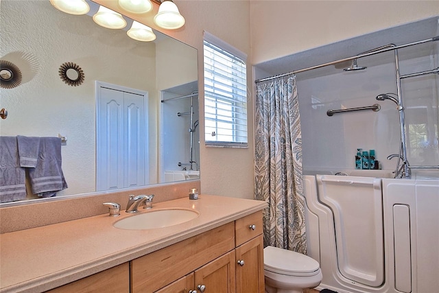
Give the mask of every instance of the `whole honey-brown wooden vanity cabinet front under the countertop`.
[[262, 212], [49, 291], [263, 293]]

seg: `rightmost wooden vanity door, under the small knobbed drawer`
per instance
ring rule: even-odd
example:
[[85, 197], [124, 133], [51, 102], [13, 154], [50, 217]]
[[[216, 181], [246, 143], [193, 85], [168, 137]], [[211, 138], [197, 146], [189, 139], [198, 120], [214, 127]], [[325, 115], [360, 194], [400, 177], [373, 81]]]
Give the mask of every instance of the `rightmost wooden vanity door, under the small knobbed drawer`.
[[236, 293], [263, 293], [263, 235], [238, 246], [236, 252]]

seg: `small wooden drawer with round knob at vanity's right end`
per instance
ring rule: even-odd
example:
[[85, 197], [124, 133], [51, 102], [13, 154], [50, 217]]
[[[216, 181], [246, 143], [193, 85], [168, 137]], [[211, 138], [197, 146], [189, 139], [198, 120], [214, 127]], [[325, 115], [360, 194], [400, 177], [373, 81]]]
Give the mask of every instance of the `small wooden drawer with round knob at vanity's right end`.
[[257, 211], [235, 221], [236, 246], [240, 246], [260, 234], [262, 234], [262, 211]]

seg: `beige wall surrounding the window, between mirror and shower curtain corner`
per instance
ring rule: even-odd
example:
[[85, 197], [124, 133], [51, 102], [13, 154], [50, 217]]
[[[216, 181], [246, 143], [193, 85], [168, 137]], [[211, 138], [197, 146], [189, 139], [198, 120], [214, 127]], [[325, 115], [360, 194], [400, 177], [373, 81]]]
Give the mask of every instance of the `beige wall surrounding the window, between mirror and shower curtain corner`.
[[165, 32], [198, 49], [200, 81], [200, 163], [204, 194], [253, 198], [253, 98], [248, 92], [248, 149], [204, 146], [203, 31], [221, 38], [249, 56], [248, 87], [252, 89], [250, 63], [250, 3], [248, 1], [174, 1], [185, 16], [185, 27]]

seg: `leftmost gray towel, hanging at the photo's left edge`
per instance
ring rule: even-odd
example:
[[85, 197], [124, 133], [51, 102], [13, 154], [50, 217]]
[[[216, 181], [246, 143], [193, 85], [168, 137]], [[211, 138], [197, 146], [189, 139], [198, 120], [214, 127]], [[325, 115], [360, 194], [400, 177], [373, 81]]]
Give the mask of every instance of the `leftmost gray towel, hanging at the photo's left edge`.
[[19, 164], [16, 137], [0, 137], [0, 202], [26, 198], [25, 169]]

